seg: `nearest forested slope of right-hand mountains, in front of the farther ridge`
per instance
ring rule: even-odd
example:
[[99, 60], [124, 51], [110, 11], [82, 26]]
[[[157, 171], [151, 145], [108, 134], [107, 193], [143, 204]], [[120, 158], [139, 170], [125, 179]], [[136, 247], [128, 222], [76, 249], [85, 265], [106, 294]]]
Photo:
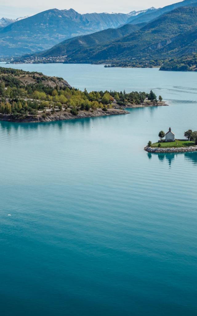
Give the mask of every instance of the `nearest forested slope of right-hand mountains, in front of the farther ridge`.
[[[195, 34], [197, 8], [183, 7], [170, 11], [148, 23], [140, 30], [95, 47], [74, 50], [67, 46], [69, 62], [121, 61], [132, 58], [167, 58], [197, 50]], [[184, 38], [184, 40], [183, 40]], [[183, 43], [185, 41], [185, 44]]]

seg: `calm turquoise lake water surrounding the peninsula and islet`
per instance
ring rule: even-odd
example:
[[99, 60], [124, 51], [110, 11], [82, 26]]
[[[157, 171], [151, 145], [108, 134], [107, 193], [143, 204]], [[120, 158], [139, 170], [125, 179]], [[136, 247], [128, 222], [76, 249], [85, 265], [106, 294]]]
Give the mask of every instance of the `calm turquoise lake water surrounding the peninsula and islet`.
[[1, 314], [196, 315], [197, 153], [143, 147], [169, 126], [197, 130], [197, 73], [12, 67], [80, 89], [153, 88], [169, 106], [0, 122]]

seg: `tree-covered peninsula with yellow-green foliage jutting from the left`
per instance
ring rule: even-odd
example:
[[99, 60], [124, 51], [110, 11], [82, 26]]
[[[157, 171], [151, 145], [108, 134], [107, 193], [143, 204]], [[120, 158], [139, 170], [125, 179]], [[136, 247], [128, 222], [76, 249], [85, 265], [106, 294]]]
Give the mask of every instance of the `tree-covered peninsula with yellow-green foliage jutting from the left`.
[[59, 77], [0, 67], [0, 120], [44, 122], [127, 114], [127, 107], [165, 105], [146, 92], [80, 91]]

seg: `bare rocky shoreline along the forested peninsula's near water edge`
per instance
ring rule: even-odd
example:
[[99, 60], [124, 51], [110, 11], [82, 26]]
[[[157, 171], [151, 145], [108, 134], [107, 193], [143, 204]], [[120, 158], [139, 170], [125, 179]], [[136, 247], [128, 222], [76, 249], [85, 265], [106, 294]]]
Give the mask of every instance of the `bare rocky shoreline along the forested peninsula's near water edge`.
[[[42, 113], [43, 114], [43, 113]], [[35, 123], [35, 122], [52, 122], [52, 121], [62, 121], [62, 120], [70, 120], [70, 119], [83, 119], [83, 118], [92, 118], [99, 116], [109, 116], [109, 115], [118, 115], [118, 114], [129, 114], [128, 111], [120, 110], [120, 109], [107, 109], [106, 112], [102, 111], [102, 109], [96, 109], [93, 112], [90, 111], [79, 111], [77, 115], [73, 115], [67, 111], [55, 112], [55, 113], [47, 113], [46, 115], [28, 115], [28, 117], [24, 119], [14, 119], [11, 115], [4, 114], [0, 117], [1, 121], [7, 122], [16, 122], [16, 123]]]

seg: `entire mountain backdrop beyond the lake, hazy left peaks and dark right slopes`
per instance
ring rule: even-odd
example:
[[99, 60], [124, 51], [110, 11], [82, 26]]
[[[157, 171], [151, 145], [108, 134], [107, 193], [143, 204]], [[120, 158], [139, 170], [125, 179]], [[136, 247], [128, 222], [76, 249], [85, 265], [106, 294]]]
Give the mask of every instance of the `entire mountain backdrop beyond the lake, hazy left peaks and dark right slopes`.
[[129, 14], [51, 9], [2, 28], [0, 55], [66, 56], [68, 63], [161, 61], [196, 52], [196, 36], [197, 0]]

